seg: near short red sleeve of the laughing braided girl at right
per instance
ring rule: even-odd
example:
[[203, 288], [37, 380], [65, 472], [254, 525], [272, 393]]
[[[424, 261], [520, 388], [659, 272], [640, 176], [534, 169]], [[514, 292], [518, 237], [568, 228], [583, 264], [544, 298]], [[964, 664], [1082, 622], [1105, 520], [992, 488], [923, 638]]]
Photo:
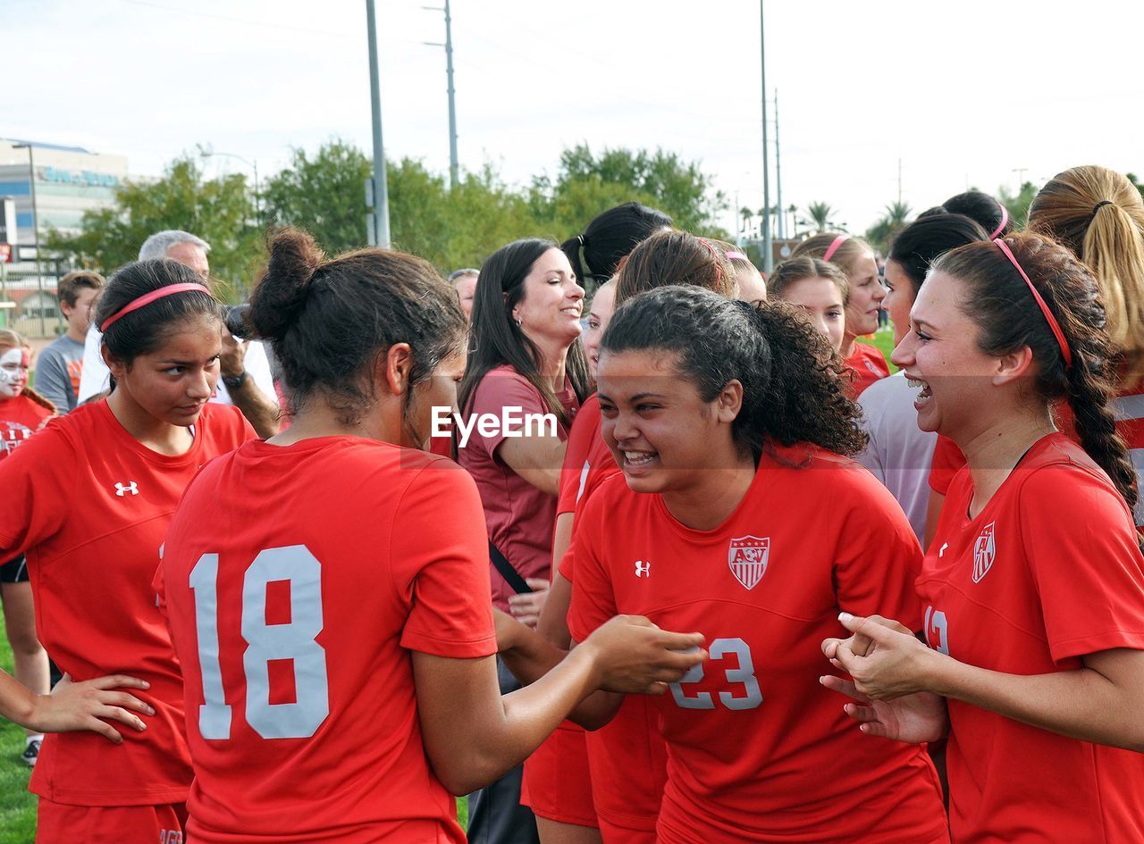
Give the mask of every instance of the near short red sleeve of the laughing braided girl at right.
[[1144, 650], [1144, 557], [1128, 505], [1109, 481], [1046, 467], [1022, 486], [1019, 512], [1054, 661]]

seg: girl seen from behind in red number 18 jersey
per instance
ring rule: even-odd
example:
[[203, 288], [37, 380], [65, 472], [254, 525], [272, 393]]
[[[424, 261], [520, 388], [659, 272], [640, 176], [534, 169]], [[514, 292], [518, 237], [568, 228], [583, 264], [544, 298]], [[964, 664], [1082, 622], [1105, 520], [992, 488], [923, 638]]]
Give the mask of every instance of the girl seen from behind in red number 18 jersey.
[[157, 576], [190, 715], [191, 839], [462, 842], [450, 791], [518, 764], [598, 685], [682, 675], [697, 658], [667, 648], [701, 637], [619, 619], [502, 699], [476, 484], [420, 451], [464, 368], [453, 290], [420, 258], [325, 260], [286, 231], [249, 320], [294, 423], [202, 469]]

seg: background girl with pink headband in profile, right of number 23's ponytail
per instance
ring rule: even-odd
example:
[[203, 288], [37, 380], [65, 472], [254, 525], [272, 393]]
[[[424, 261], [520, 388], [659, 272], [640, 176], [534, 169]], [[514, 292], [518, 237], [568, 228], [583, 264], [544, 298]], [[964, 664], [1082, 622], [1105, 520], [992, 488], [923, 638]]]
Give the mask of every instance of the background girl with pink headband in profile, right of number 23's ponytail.
[[855, 397], [879, 379], [890, 374], [885, 358], [876, 347], [859, 343], [858, 337], [877, 331], [877, 313], [885, 288], [877, 276], [874, 250], [861, 238], [826, 232], [799, 244], [792, 257], [816, 257], [839, 266], [850, 282], [847, 325], [840, 353], [853, 373]]

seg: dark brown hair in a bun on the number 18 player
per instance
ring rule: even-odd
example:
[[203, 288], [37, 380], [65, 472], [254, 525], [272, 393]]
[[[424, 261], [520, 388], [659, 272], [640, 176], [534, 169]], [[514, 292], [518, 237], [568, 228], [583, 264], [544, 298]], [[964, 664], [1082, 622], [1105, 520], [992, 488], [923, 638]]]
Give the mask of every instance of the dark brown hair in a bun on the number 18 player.
[[247, 320], [273, 347], [293, 411], [320, 395], [353, 424], [374, 401], [371, 373], [391, 345], [410, 344], [411, 388], [458, 350], [464, 312], [429, 262], [391, 249], [326, 258], [299, 229], [272, 232], [268, 246]]

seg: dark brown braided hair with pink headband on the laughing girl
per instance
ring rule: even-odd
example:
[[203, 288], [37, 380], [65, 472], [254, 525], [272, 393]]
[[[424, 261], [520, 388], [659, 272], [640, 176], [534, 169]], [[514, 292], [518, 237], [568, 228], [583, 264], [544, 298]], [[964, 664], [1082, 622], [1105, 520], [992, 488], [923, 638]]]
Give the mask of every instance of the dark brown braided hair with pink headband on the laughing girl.
[[1072, 366], [1038, 306], [1028, 285], [992, 241], [961, 246], [934, 262], [934, 270], [969, 288], [966, 313], [980, 328], [978, 348], [991, 356], [1028, 347], [1036, 363], [1033, 389], [1046, 408], [1067, 399], [1081, 447], [1107, 472], [1130, 509], [1136, 507], [1136, 472], [1117, 433], [1112, 345], [1096, 279], [1067, 248], [1038, 234], [1006, 238], [1025, 274], [1056, 317], [1072, 351]]

